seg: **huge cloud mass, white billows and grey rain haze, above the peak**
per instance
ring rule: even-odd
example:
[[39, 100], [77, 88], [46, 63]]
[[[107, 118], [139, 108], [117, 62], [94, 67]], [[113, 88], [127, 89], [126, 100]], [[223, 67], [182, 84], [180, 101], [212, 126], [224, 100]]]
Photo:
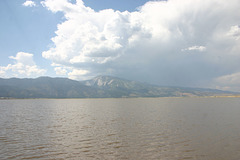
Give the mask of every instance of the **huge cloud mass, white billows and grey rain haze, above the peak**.
[[134, 12], [97, 12], [82, 0], [45, 0], [42, 5], [65, 18], [53, 47], [42, 55], [72, 68], [66, 74], [75, 79], [110, 74], [206, 87], [216, 77], [238, 72], [239, 0], [150, 1]]

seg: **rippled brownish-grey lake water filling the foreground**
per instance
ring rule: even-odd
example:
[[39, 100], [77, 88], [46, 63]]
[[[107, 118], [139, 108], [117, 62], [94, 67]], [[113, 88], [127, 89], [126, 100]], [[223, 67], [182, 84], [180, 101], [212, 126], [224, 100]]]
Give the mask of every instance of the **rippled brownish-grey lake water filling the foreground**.
[[0, 100], [0, 159], [239, 160], [240, 98]]

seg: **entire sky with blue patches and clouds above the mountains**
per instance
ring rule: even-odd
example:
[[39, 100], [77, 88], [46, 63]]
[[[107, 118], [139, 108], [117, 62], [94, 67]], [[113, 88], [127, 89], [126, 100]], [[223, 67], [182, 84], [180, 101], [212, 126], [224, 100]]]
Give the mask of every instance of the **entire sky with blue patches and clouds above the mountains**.
[[240, 92], [239, 0], [1, 0], [0, 77]]

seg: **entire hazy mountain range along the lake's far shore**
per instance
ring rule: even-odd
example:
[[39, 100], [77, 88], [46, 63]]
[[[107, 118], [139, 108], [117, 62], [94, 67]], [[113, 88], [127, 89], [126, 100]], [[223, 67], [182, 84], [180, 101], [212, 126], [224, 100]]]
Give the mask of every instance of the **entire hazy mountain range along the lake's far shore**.
[[231, 94], [234, 93], [214, 89], [160, 87], [111, 76], [98, 76], [87, 81], [50, 77], [0, 78], [0, 97], [4, 98], [188, 97]]

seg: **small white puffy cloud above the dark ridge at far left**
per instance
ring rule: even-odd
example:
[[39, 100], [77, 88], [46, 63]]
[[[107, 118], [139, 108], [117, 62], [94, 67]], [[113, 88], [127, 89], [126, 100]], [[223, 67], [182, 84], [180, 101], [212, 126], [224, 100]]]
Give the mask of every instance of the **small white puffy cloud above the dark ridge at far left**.
[[46, 73], [46, 70], [40, 69], [33, 61], [33, 54], [18, 52], [17, 55], [10, 56], [14, 64], [0, 66], [0, 76], [9, 77], [38, 77]]

